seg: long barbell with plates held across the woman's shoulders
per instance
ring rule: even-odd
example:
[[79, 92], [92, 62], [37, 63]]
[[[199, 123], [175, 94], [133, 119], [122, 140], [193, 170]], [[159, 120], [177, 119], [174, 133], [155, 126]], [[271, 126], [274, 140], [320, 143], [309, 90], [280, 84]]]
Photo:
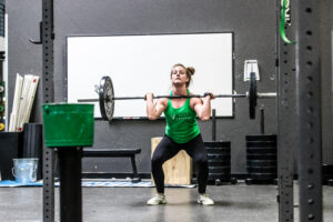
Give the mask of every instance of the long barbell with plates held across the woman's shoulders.
[[[102, 77], [100, 85], [95, 90], [99, 99], [79, 99], [78, 102], [99, 102], [102, 119], [112, 121], [114, 112], [114, 100], [144, 100], [145, 97], [114, 97], [113, 83], [110, 77]], [[204, 98], [201, 94], [191, 95], [155, 95], [154, 99], [183, 99], [183, 98]], [[249, 92], [245, 94], [214, 94], [215, 98], [248, 98], [249, 100], [249, 114], [250, 119], [255, 119], [255, 108], [258, 99], [272, 99], [276, 98], [275, 92], [258, 92], [255, 73], [250, 73]]]

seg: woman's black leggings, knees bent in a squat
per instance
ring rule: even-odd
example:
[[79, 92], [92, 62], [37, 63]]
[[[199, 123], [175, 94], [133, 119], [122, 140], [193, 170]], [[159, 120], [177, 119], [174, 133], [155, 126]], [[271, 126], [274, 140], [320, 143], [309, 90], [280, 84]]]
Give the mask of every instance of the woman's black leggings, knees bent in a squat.
[[198, 186], [199, 193], [205, 193], [208, 180], [208, 159], [206, 150], [203, 144], [201, 134], [186, 143], [173, 142], [168, 135], [157, 147], [152, 160], [151, 169], [159, 193], [164, 193], [164, 172], [162, 164], [174, 157], [179, 151], [185, 150], [198, 167]]

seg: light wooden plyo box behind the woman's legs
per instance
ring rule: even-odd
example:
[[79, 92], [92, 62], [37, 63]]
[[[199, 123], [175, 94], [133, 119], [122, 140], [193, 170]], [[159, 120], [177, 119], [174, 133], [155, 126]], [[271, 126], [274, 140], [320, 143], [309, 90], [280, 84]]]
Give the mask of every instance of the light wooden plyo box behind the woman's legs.
[[[162, 138], [151, 139], [151, 157]], [[192, 159], [184, 150], [164, 162], [164, 184], [169, 185], [189, 185], [192, 179]], [[151, 183], [154, 184], [153, 176]]]

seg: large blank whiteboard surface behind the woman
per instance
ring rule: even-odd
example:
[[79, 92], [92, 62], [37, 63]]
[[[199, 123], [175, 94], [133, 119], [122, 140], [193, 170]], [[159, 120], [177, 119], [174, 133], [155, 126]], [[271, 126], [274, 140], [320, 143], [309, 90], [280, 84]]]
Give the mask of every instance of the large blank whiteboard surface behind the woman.
[[[103, 75], [112, 79], [114, 97], [170, 94], [175, 63], [195, 69], [189, 87], [194, 94], [231, 94], [232, 41], [232, 33], [68, 37], [68, 102], [97, 99], [94, 85]], [[94, 104], [94, 117], [100, 118], [99, 103]], [[232, 117], [232, 99], [214, 99], [212, 109], [216, 117]], [[113, 117], [145, 118], [145, 101], [117, 100]]]

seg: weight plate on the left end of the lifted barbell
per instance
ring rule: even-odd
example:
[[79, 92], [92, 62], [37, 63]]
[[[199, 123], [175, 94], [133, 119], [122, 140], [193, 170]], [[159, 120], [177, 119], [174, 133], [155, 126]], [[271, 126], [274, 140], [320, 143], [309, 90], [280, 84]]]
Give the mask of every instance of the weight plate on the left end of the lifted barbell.
[[111, 122], [114, 112], [114, 91], [110, 77], [103, 77], [100, 82], [99, 102], [101, 115], [104, 120]]

